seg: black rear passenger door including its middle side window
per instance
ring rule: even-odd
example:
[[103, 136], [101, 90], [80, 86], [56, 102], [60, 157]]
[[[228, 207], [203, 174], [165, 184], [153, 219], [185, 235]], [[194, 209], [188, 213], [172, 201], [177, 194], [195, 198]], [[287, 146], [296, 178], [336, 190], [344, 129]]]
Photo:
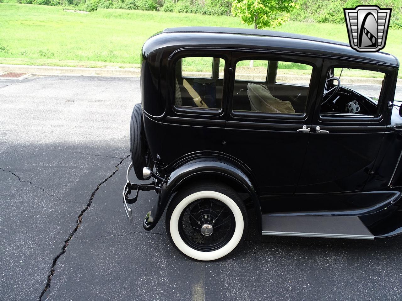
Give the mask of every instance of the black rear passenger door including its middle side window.
[[[321, 63], [308, 57], [232, 52], [224, 153], [251, 170], [261, 195], [295, 191]], [[278, 66], [304, 71], [295, 79], [292, 69]], [[277, 72], [285, 73], [287, 83], [277, 81]]]

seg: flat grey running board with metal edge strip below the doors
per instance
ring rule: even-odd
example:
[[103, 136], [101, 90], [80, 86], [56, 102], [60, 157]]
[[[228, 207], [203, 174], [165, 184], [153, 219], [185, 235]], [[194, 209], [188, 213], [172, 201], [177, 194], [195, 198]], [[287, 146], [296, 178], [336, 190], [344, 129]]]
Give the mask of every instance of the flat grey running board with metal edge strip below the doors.
[[263, 235], [374, 239], [358, 216], [263, 215]]

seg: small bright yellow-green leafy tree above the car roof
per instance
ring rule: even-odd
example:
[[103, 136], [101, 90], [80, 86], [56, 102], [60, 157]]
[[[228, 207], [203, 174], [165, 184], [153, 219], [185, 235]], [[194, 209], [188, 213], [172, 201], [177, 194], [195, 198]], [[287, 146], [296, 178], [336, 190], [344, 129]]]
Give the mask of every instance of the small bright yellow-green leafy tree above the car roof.
[[297, 8], [293, 0], [234, 0], [232, 14], [255, 29], [281, 26]]

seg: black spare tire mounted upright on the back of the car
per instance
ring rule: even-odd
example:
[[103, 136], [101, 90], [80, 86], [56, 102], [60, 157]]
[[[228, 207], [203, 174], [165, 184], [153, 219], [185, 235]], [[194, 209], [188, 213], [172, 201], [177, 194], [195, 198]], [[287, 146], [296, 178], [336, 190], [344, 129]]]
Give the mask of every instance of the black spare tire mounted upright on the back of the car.
[[130, 153], [135, 175], [141, 181], [146, 180], [142, 174], [142, 169], [146, 166], [153, 169], [154, 163], [145, 138], [141, 104], [135, 104], [131, 114]]

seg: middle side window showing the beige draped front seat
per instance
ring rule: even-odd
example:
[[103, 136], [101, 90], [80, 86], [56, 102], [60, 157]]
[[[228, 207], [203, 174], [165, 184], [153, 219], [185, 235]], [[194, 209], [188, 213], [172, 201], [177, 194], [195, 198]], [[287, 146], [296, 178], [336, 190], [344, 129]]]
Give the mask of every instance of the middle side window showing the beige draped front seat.
[[306, 112], [312, 66], [248, 60], [236, 63], [235, 72], [232, 110], [269, 114]]

